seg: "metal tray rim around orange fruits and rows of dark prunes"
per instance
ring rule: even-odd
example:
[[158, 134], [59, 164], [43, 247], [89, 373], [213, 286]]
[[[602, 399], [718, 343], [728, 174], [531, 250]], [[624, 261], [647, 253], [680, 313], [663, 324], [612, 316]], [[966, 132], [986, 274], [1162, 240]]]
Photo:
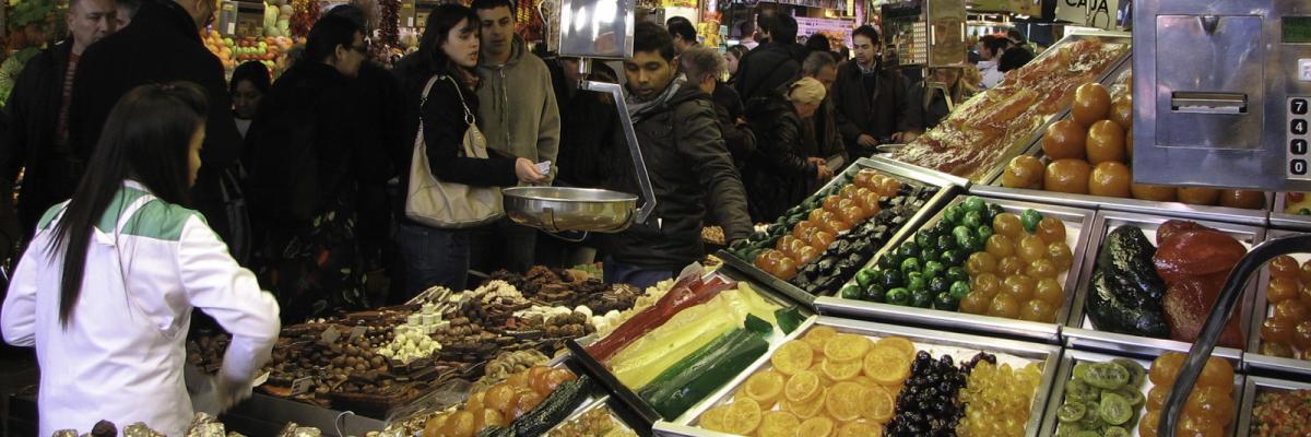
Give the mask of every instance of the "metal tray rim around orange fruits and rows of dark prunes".
[[[929, 214], [943, 207], [943, 205], [947, 203], [948, 199], [956, 196], [957, 190], [964, 190], [965, 186], [969, 185], [969, 181], [952, 175], [876, 156], [876, 157], [861, 157], [860, 160], [856, 160], [855, 164], [848, 167], [846, 172], [843, 172], [844, 177], [834, 177], [831, 181], [825, 184], [817, 192], [826, 190], [830, 186], [835, 186], [836, 184], [844, 184], [844, 180], [850, 181], [851, 177], [856, 175], [856, 172], [860, 172], [861, 169], [865, 168], [872, 168], [874, 171], [878, 171], [880, 173], [884, 173], [885, 176], [897, 177], [902, 180], [902, 182], [914, 182], [919, 185], [939, 188], [937, 193], [933, 194], [933, 197], [931, 197], [928, 202], [926, 202], [924, 206], [918, 213], [911, 215], [911, 218], [907, 219], [906, 223], [902, 224], [902, 227], [893, 234], [893, 238], [888, 240], [888, 243], [885, 243], [878, 252], [874, 253], [876, 259], [878, 257], [880, 253], [882, 253], [884, 248], [901, 243], [902, 239], [906, 238], [907, 231], [910, 228], [914, 228], [918, 223], [926, 220], [929, 217]], [[753, 281], [763, 283], [766, 287], [772, 289], [783, 295], [787, 295], [792, 301], [810, 310], [815, 310], [815, 295], [810, 294], [810, 291], [802, 290], [788, 281], [773, 277], [772, 274], [768, 274], [764, 270], [756, 268], [751, 261], [738, 259], [737, 256], [729, 253], [728, 251], [720, 251], [716, 255], [721, 260], [724, 260], [724, 265], [732, 266], [738, 272], [745, 273]]]

